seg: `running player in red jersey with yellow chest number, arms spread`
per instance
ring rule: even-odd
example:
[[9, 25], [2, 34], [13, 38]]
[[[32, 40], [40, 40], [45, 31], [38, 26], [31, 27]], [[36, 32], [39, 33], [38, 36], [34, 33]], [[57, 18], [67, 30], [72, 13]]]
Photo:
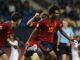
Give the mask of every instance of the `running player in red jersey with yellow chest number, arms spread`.
[[54, 32], [58, 29], [67, 39], [70, 39], [65, 32], [62, 30], [62, 27], [56, 17], [58, 15], [58, 8], [51, 7], [49, 9], [50, 19], [42, 18], [39, 22], [32, 22], [32, 20], [28, 22], [30, 26], [37, 26], [37, 44], [42, 49], [43, 52], [48, 53], [51, 56], [52, 60], [57, 60], [57, 56], [53, 50], [54, 47]]

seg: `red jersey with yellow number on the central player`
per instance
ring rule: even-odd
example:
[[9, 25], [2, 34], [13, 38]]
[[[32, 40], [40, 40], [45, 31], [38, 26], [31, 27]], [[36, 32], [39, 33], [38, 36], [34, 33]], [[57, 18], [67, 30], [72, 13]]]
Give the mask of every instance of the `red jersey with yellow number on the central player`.
[[[54, 32], [55, 30], [61, 29], [61, 24], [59, 22], [59, 20], [55, 20], [53, 23], [48, 20], [48, 19], [41, 19], [37, 24], [39, 24], [38, 26], [38, 39], [40, 39], [41, 41], [46, 41], [46, 42], [50, 42], [53, 43], [54, 42]], [[35, 26], [36, 23], [33, 23], [33, 26]]]

